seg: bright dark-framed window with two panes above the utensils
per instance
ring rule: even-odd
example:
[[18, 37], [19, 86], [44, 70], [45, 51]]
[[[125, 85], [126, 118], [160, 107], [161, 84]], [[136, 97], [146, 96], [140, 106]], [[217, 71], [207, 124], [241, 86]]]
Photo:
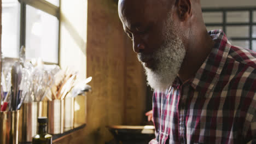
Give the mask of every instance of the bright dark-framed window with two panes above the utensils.
[[2, 0], [2, 52], [18, 58], [26, 46], [26, 58], [59, 63], [60, 0]]

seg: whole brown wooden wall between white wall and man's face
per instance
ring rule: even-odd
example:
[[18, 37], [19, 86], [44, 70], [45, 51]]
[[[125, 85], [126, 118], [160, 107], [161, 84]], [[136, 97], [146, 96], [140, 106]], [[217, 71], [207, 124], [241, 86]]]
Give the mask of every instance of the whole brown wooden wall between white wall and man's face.
[[88, 119], [83, 143], [113, 139], [106, 125], [139, 125], [145, 118], [146, 82], [124, 34], [113, 0], [88, 0]]

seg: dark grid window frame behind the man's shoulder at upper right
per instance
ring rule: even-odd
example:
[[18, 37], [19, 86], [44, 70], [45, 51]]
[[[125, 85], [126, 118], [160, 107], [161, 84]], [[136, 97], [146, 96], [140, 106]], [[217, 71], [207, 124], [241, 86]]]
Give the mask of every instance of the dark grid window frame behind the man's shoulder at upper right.
[[[227, 22], [226, 14], [228, 12], [239, 12], [239, 11], [246, 11], [249, 12], [249, 22]], [[248, 40], [249, 41], [249, 49], [252, 50], [252, 43], [253, 40], [253, 26], [256, 26], [256, 22], [253, 22], [253, 12], [256, 11], [255, 7], [241, 7], [241, 8], [230, 8], [230, 7], [223, 7], [223, 8], [202, 8], [202, 13], [219, 13], [221, 12], [222, 15], [222, 22], [206, 22], [206, 26], [220, 26], [223, 28], [224, 33], [226, 33], [227, 26], [248, 26], [249, 27], [249, 37], [230, 37], [231, 40]]]

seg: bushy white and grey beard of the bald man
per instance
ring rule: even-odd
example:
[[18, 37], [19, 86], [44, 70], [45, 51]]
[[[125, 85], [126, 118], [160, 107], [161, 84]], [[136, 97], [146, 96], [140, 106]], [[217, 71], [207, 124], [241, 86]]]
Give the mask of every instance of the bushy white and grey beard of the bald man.
[[153, 68], [145, 67], [148, 85], [156, 91], [165, 91], [176, 79], [185, 57], [185, 47], [182, 40], [173, 32], [173, 23], [168, 16], [164, 33], [165, 44], [153, 53], [153, 56], [147, 56], [138, 53], [138, 59], [142, 57], [151, 57], [154, 59]]

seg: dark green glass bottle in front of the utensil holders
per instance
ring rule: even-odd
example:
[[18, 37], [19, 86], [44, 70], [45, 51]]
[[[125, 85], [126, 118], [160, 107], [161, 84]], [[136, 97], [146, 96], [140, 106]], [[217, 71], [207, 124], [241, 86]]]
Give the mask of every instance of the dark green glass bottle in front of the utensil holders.
[[33, 137], [32, 144], [52, 144], [53, 136], [47, 134], [47, 117], [38, 117], [37, 122], [39, 123], [38, 134]]

